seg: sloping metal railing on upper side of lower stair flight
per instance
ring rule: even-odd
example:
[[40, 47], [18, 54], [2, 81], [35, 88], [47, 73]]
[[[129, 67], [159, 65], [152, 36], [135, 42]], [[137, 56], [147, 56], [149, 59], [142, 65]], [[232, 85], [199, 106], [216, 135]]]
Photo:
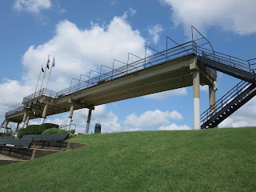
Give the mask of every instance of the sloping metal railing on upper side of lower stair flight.
[[231, 90], [229, 90], [222, 98], [218, 99], [217, 102], [214, 103], [214, 106], [210, 106], [209, 109], [204, 111], [201, 114], [201, 123], [205, 123], [208, 121], [214, 114], [218, 113], [218, 111], [222, 110], [228, 103], [230, 103], [234, 98], [236, 98], [239, 94], [242, 93], [248, 86], [250, 86], [250, 82], [241, 81], [238, 85], [234, 86]]

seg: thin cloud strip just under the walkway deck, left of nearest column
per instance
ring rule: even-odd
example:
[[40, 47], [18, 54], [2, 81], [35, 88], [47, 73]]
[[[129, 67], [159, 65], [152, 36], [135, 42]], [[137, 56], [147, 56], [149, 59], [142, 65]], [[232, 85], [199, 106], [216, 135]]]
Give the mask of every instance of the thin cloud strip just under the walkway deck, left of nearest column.
[[151, 98], [151, 99], [157, 99], [157, 100], [162, 100], [165, 98], [169, 98], [172, 95], [186, 95], [186, 87], [176, 89], [176, 90], [166, 90], [160, 93], [156, 94], [148, 94], [144, 96], [144, 98]]

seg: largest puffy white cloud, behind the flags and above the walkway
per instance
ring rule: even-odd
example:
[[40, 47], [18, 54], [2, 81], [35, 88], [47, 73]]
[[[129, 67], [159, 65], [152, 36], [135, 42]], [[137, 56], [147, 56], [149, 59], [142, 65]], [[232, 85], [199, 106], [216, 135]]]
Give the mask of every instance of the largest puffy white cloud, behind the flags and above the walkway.
[[[144, 47], [145, 40], [139, 31], [132, 30], [122, 17], [114, 17], [108, 26], [92, 22], [91, 28], [86, 30], [65, 20], [58, 23], [54, 38], [43, 45], [30, 46], [23, 55], [22, 64], [26, 69], [23, 81], [34, 86], [34, 79], [38, 78], [41, 66], [46, 65], [48, 54], [51, 61], [55, 57], [48, 88], [60, 90], [80, 74], [89, 74], [101, 65], [112, 67], [114, 58], [126, 61], [129, 52], [142, 56]], [[115, 68], [121, 65], [116, 62]]]

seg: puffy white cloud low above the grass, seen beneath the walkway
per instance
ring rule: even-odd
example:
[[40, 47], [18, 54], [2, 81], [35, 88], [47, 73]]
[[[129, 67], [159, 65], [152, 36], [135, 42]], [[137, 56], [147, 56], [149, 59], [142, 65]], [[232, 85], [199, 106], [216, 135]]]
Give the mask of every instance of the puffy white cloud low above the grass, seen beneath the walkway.
[[170, 122], [170, 119], [173, 120], [182, 120], [182, 114], [179, 114], [178, 111], [174, 110], [169, 112], [162, 112], [161, 110], [148, 110], [144, 114], [137, 116], [136, 114], [130, 114], [126, 117], [123, 124], [130, 128], [154, 128], [159, 126], [164, 126]]

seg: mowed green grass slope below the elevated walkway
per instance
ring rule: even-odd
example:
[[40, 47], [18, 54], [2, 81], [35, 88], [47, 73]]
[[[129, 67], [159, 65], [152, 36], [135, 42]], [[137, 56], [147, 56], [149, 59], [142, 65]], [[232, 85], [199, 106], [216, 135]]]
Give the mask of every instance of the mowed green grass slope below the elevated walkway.
[[256, 191], [256, 128], [89, 134], [0, 167], [0, 191]]

